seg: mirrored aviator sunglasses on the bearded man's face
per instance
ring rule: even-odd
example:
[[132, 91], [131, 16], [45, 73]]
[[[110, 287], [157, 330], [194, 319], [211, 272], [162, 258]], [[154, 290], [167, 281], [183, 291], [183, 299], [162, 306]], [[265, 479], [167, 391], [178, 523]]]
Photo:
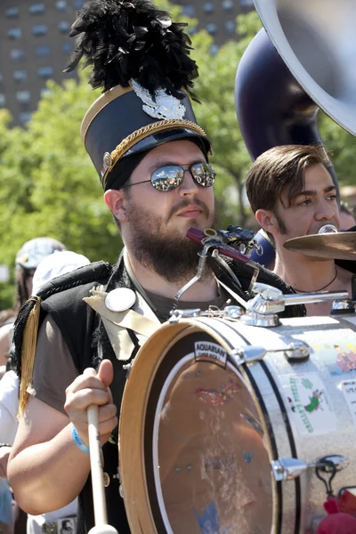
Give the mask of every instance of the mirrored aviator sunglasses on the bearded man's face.
[[184, 172], [189, 171], [194, 182], [202, 187], [212, 187], [215, 181], [216, 173], [209, 163], [193, 163], [191, 166], [165, 165], [161, 166], [150, 176], [150, 180], [143, 182], [129, 183], [126, 187], [139, 185], [140, 183], [151, 182], [153, 187], [158, 191], [170, 191], [181, 185]]

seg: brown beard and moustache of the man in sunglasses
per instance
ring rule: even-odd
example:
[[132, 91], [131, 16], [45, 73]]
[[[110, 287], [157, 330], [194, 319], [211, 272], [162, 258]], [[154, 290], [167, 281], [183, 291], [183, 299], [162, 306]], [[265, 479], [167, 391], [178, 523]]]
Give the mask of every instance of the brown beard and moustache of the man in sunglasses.
[[[168, 282], [185, 282], [197, 273], [198, 252], [202, 246], [182, 236], [179, 231], [166, 230], [168, 220], [190, 204], [191, 201], [182, 201], [179, 206], [175, 206], [167, 219], [142, 207], [130, 207], [129, 239], [132, 253], [144, 267], [152, 269]], [[197, 204], [209, 219], [206, 205], [194, 200], [194, 205]], [[206, 276], [209, 276], [208, 272]], [[206, 277], [203, 276], [204, 278]]]

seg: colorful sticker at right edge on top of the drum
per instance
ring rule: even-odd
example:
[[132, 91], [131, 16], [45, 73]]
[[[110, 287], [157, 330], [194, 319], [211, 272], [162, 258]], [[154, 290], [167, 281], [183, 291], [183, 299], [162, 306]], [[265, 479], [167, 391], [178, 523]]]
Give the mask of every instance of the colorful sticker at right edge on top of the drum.
[[331, 375], [354, 374], [356, 371], [356, 346], [352, 343], [312, 344], [312, 348], [322, 351], [323, 361]]

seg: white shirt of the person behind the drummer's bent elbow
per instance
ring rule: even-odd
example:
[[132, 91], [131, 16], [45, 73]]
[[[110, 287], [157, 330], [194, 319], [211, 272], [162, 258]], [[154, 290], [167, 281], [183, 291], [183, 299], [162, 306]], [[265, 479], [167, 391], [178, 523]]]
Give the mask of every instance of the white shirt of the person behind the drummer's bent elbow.
[[[0, 380], [0, 442], [13, 445], [17, 432], [17, 412], [19, 410], [19, 377], [8, 371]], [[27, 534], [43, 534], [44, 523], [55, 522], [60, 534], [61, 520], [77, 515], [77, 499], [69, 505], [48, 514], [29, 515]], [[74, 524], [74, 522], [73, 522]]]

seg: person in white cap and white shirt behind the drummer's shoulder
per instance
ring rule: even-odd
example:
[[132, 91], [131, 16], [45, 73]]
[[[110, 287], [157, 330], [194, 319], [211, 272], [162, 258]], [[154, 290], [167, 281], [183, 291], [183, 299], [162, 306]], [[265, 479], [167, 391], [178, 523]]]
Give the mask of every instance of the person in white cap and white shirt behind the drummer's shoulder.
[[[33, 287], [29, 291], [30, 295], [36, 295], [50, 280], [89, 263], [84, 255], [69, 250], [56, 250], [38, 264], [33, 276]], [[18, 428], [19, 390], [20, 381], [16, 373], [13, 370], [5, 373], [0, 380], [0, 441], [3, 442], [0, 445], [0, 477], [3, 478], [6, 478], [7, 461]], [[52, 513], [28, 515], [27, 533], [59, 534], [56, 531], [57, 521], [61, 520], [62, 524], [72, 524], [76, 515], [76, 499], [68, 506]]]

